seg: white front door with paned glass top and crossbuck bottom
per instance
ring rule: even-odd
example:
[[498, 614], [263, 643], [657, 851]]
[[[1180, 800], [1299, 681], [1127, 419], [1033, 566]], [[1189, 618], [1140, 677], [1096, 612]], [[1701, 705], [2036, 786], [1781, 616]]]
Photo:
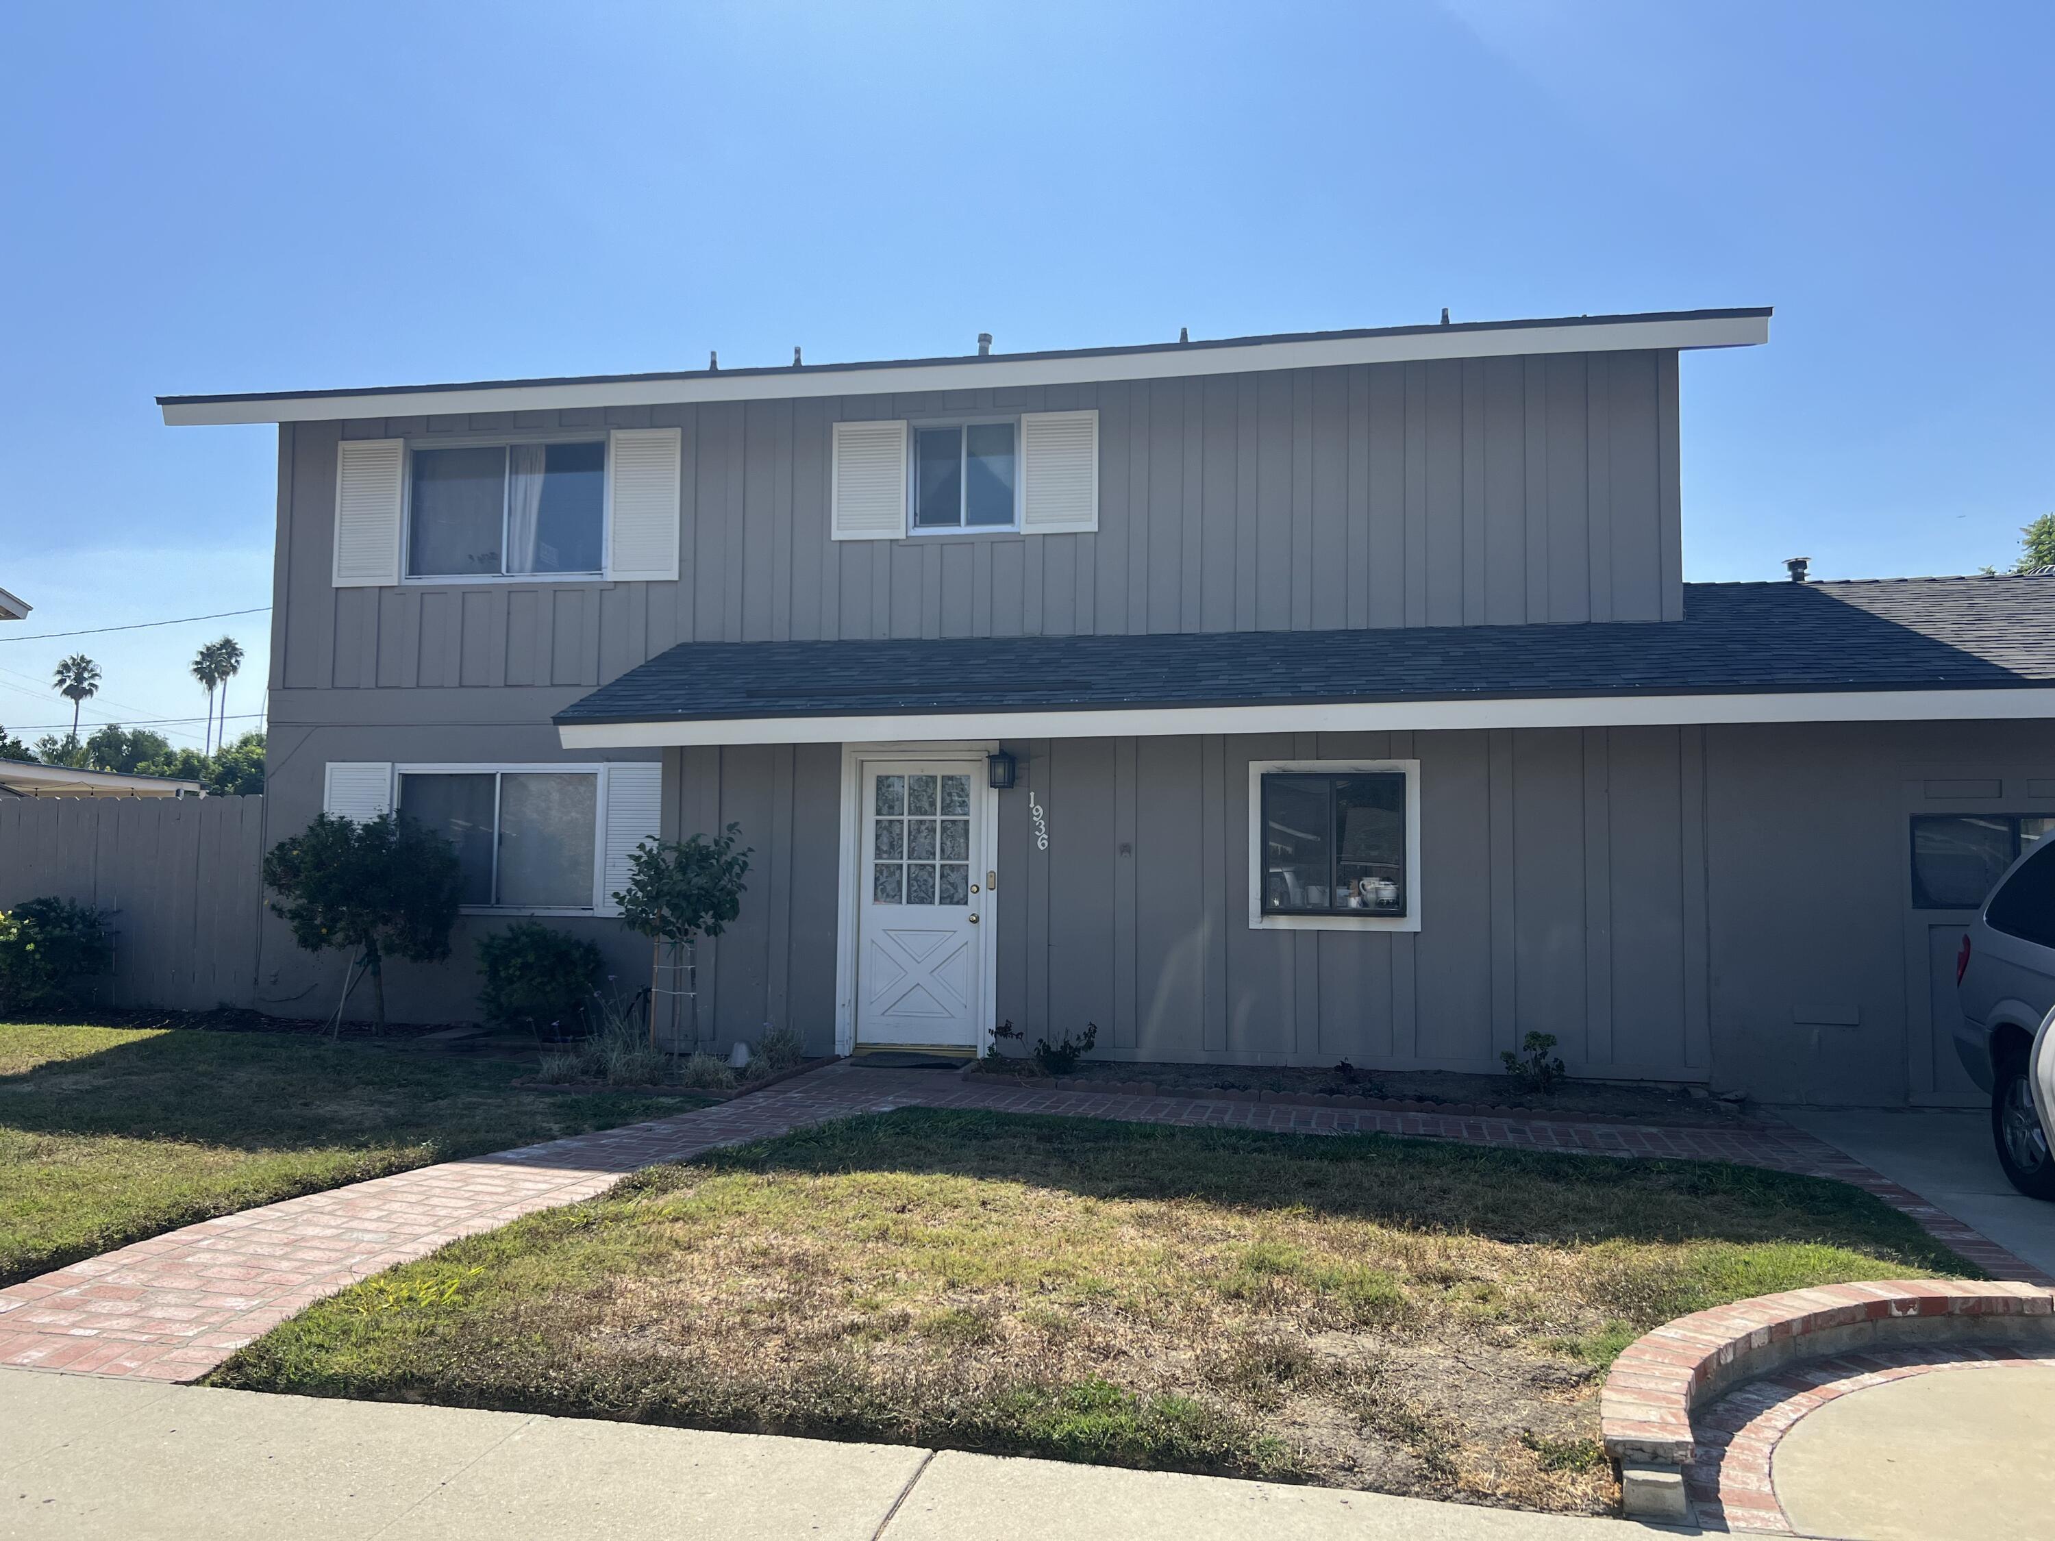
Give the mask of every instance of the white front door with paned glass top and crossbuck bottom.
[[976, 1048], [980, 760], [865, 760], [857, 1044]]

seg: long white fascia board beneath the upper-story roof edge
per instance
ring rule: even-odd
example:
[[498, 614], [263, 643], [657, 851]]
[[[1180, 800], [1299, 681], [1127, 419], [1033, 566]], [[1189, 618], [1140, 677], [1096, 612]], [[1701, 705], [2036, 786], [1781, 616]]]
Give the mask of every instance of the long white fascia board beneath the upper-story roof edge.
[[358, 394], [166, 401], [164, 423], [327, 423], [343, 417], [423, 417], [429, 413], [563, 411], [569, 407], [674, 407], [699, 401], [793, 401], [799, 397], [880, 397], [921, 390], [995, 390], [1104, 380], [1171, 380], [1200, 374], [1313, 370], [1338, 364], [1410, 364], [1441, 358], [1519, 353], [1617, 353], [1671, 347], [1753, 347], [1769, 341], [1769, 316], [1691, 316], [1568, 327], [1478, 327], [1387, 337], [1315, 337], [1245, 347], [1180, 347], [1085, 358], [995, 358], [962, 364], [904, 364], [861, 370], [775, 370], [656, 380], [592, 380], [446, 390], [364, 390]]

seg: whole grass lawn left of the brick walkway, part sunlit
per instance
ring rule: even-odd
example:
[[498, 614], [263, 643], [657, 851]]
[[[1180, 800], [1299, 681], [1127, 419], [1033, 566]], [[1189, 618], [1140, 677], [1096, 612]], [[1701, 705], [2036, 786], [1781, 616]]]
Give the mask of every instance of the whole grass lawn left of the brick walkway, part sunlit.
[[296, 1033], [0, 1023], [0, 1284], [212, 1214], [695, 1107]]

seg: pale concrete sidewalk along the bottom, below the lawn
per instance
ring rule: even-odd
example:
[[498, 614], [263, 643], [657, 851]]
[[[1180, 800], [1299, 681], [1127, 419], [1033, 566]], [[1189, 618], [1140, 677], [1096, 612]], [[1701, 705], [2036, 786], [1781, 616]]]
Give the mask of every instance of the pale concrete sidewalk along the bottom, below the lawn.
[[1630, 1541], [1223, 1477], [0, 1368], [0, 1537]]

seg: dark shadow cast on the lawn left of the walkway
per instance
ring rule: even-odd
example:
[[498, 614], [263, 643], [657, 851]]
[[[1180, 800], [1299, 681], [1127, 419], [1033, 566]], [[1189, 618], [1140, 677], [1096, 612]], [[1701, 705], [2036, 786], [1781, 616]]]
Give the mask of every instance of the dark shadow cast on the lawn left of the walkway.
[[[0, 1025], [0, 1036], [6, 1031]], [[534, 1093], [512, 1085], [526, 1073], [518, 1064], [333, 1044], [304, 1033], [160, 1029], [0, 1075], [0, 1128], [232, 1151], [434, 1138], [448, 1155], [471, 1155], [503, 1149], [510, 1134], [512, 1142], [528, 1142], [705, 1101], [641, 1089]]]

